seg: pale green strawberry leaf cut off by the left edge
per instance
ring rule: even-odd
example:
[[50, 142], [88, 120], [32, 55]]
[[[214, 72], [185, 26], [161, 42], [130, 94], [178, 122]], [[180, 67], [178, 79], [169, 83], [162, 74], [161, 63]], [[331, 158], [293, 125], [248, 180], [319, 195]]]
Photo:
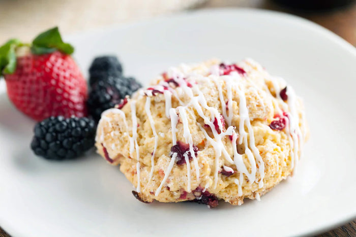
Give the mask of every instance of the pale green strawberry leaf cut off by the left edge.
[[16, 69], [16, 47], [21, 43], [17, 39], [12, 39], [0, 47], [0, 76], [2, 74], [12, 74]]

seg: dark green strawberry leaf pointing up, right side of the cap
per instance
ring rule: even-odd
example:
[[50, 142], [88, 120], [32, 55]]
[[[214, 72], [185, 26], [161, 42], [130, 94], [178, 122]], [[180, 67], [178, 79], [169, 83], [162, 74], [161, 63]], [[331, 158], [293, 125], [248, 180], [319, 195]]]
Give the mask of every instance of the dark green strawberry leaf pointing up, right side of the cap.
[[58, 27], [40, 33], [32, 42], [31, 50], [35, 54], [51, 53], [55, 50], [65, 54], [72, 54], [74, 52], [72, 45], [63, 42]]

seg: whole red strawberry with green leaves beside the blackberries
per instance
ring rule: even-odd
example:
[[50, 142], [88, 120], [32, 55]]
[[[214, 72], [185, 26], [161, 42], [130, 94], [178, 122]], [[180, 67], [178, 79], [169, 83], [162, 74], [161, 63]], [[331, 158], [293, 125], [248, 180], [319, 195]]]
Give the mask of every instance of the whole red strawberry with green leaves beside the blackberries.
[[31, 45], [10, 40], [0, 47], [0, 76], [15, 107], [41, 121], [50, 116], [84, 117], [87, 85], [58, 28], [41, 33]]

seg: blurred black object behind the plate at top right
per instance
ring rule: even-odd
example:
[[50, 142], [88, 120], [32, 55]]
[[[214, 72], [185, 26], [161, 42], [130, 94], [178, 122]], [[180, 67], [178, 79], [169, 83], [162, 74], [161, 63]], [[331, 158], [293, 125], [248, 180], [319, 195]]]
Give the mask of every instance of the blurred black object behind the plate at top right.
[[273, 0], [281, 5], [303, 10], [329, 10], [351, 4], [354, 0]]

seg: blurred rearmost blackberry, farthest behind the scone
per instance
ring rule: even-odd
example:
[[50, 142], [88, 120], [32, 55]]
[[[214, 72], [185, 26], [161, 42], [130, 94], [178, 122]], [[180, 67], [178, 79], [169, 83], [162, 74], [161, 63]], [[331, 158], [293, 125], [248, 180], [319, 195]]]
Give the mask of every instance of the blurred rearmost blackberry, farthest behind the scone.
[[92, 86], [99, 80], [106, 80], [108, 77], [120, 77], [123, 67], [115, 56], [96, 57], [89, 69], [89, 84]]

